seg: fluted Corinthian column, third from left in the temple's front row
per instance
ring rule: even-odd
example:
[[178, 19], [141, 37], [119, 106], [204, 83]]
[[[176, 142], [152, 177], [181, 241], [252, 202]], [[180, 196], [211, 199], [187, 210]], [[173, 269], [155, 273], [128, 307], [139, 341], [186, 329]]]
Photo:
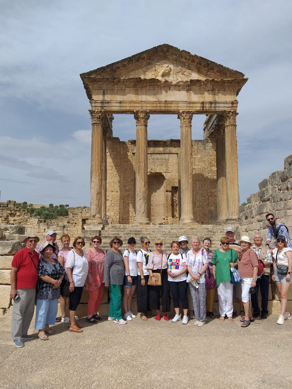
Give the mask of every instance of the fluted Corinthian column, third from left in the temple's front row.
[[192, 186], [192, 118], [193, 111], [179, 111], [181, 122], [181, 218], [180, 223], [193, 222]]

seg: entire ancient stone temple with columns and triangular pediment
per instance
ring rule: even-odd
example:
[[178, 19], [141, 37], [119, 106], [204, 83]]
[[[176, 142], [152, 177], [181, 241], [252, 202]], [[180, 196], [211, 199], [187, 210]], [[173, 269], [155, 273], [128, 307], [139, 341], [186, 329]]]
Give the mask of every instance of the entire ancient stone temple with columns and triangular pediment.
[[[243, 73], [163, 44], [81, 79], [91, 105], [92, 221], [237, 221], [236, 116], [237, 95], [247, 81]], [[136, 140], [113, 137], [116, 114], [133, 116]], [[178, 117], [180, 140], [148, 140], [148, 119], [155, 114]], [[204, 139], [192, 140], [192, 117], [199, 114], [207, 116]]]

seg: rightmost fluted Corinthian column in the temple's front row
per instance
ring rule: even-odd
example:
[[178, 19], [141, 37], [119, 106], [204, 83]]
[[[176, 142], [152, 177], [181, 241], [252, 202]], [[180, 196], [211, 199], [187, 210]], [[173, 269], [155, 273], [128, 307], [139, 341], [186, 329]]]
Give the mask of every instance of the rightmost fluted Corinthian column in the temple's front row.
[[227, 189], [227, 220], [238, 220], [239, 189], [236, 140], [237, 112], [225, 112], [225, 160]]

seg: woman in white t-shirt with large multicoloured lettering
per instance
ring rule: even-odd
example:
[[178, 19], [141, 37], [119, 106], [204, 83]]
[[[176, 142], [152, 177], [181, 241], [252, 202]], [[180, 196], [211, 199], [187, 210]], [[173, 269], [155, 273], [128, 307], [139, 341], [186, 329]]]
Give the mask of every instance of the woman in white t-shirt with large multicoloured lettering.
[[186, 291], [188, 284], [186, 282], [186, 255], [179, 252], [179, 243], [171, 242], [172, 253], [168, 255], [168, 284], [171, 289], [172, 300], [176, 315], [172, 322], [181, 320], [179, 314], [179, 300], [181, 300], [181, 307], [183, 308], [182, 324], [188, 324], [188, 299]]

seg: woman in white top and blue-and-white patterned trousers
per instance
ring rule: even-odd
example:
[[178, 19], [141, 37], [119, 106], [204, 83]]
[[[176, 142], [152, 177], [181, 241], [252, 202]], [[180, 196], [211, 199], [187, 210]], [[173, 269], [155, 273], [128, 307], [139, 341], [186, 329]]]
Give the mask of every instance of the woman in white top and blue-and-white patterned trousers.
[[206, 281], [205, 270], [208, 266], [208, 256], [204, 249], [199, 246], [200, 238], [193, 236], [191, 240], [192, 250], [186, 254], [186, 267], [189, 276], [195, 280], [198, 287], [190, 282], [190, 291], [193, 299], [193, 311], [195, 312], [195, 326], [202, 327], [206, 322]]

